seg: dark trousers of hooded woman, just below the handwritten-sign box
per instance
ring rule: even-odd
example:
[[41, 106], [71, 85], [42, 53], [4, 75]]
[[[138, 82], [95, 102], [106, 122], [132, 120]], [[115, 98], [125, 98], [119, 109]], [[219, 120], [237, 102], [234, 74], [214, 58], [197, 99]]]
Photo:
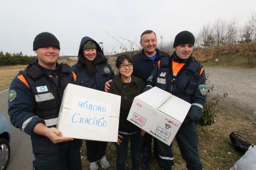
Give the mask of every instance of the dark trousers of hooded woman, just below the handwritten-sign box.
[[96, 162], [102, 159], [102, 156], [106, 154], [106, 147], [108, 142], [102, 141], [86, 141], [87, 159], [89, 162]]

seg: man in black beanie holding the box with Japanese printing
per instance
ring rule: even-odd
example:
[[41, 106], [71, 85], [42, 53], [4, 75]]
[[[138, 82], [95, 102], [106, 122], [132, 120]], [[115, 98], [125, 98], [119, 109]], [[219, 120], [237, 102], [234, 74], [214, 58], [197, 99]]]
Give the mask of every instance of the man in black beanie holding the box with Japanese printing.
[[[203, 66], [192, 57], [194, 35], [189, 31], [178, 33], [174, 40], [174, 53], [162, 57], [147, 79], [145, 90], [153, 86], [166, 90], [172, 95], [189, 102], [192, 106], [187, 113], [175, 138], [181, 156], [186, 160], [187, 169], [203, 169], [198, 153], [197, 122], [206, 102], [206, 75]], [[171, 146], [157, 141], [160, 165], [171, 169], [174, 161]]]

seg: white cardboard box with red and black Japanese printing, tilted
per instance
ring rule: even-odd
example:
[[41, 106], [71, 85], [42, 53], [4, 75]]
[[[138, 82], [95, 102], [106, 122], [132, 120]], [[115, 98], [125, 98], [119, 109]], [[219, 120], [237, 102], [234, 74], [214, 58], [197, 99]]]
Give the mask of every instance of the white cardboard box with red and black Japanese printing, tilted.
[[153, 87], [135, 97], [127, 120], [171, 145], [191, 104], [165, 90]]

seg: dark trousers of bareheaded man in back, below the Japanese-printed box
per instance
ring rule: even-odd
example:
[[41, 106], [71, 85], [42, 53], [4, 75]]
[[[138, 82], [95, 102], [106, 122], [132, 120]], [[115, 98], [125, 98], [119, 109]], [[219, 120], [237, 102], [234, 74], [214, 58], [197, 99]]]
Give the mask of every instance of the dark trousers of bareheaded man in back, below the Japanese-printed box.
[[[141, 153], [142, 153], [142, 163], [143, 164], [147, 164], [150, 162], [150, 159], [151, 159], [151, 154], [152, 154], [152, 151], [151, 151], [151, 143], [152, 143], [152, 136], [148, 133], [145, 133], [144, 135], [144, 142], [143, 142], [143, 145], [142, 145], [142, 148], [141, 148]], [[157, 145], [156, 145], [156, 138], [153, 138], [154, 139], [154, 156], [156, 157], [156, 159], [158, 160], [159, 159], [159, 153], [158, 153], [158, 148], [157, 148]]]

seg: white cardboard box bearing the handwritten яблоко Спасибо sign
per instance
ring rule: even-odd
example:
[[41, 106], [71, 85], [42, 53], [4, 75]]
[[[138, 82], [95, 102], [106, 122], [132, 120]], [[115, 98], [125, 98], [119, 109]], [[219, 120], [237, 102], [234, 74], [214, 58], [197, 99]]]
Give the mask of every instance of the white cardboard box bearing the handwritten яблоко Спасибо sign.
[[57, 128], [63, 136], [117, 142], [121, 96], [68, 84]]

